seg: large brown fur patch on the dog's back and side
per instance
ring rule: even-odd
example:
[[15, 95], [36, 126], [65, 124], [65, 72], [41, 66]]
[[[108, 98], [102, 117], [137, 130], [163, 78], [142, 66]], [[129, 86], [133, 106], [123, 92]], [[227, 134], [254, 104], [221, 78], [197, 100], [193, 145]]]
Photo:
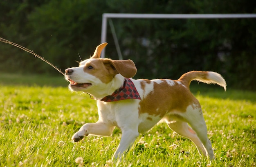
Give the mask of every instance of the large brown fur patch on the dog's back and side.
[[[166, 80], [158, 84], [154, 82], [154, 89], [140, 102], [139, 114], [148, 113], [153, 116], [163, 117], [172, 111], [186, 112], [191, 104], [198, 104], [198, 100], [182, 84], [170, 86]], [[158, 110], [157, 110], [158, 108]]]

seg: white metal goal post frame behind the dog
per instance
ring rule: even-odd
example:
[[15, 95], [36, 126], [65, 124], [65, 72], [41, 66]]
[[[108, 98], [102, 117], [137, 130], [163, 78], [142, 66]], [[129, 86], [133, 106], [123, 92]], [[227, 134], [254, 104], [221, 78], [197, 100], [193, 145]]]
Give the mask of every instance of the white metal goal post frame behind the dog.
[[[215, 18], [256, 18], [256, 14], [135, 14], [135, 13], [103, 13], [101, 24], [101, 43], [106, 42], [108, 18], [135, 19], [215, 19]], [[105, 58], [105, 49], [101, 52]]]

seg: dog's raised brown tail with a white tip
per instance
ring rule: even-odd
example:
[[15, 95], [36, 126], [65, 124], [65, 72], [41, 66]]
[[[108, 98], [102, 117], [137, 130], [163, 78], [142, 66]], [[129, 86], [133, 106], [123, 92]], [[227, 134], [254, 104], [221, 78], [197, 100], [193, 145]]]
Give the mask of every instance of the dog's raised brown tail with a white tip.
[[225, 79], [222, 78], [219, 73], [213, 71], [190, 71], [188, 73], [184, 73], [178, 80], [183, 81], [187, 87], [189, 87], [192, 80], [197, 80], [207, 84], [218, 84], [223, 87], [225, 91], [227, 86]]

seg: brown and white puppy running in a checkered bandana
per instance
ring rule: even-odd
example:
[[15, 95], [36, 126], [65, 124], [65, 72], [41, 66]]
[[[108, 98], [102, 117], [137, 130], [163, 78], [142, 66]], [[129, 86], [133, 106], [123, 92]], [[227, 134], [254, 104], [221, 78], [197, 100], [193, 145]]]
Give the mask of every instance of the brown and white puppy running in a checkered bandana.
[[[120, 158], [135, 142], [139, 133], [149, 131], [160, 121], [177, 134], [189, 138], [198, 152], [214, 159], [211, 141], [198, 100], [189, 90], [192, 80], [218, 84], [226, 91], [226, 81], [212, 71], [190, 71], [178, 80], [132, 79], [137, 69], [132, 60], [100, 58], [107, 43], [96, 47], [91, 58], [79, 67], [65, 69], [71, 91], [82, 91], [97, 100], [99, 120], [86, 123], [73, 136], [111, 136], [115, 127], [122, 136], [113, 158]], [[190, 125], [190, 126], [189, 126]]]

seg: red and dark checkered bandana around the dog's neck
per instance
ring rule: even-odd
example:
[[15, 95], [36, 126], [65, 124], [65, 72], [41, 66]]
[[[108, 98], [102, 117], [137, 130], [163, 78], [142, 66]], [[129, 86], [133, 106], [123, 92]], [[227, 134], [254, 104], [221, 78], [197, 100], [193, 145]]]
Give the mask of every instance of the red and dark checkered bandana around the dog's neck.
[[135, 85], [129, 78], [125, 78], [121, 88], [114, 91], [112, 95], [104, 97], [101, 101], [114, 102], [125, 99], [141, 99]]

